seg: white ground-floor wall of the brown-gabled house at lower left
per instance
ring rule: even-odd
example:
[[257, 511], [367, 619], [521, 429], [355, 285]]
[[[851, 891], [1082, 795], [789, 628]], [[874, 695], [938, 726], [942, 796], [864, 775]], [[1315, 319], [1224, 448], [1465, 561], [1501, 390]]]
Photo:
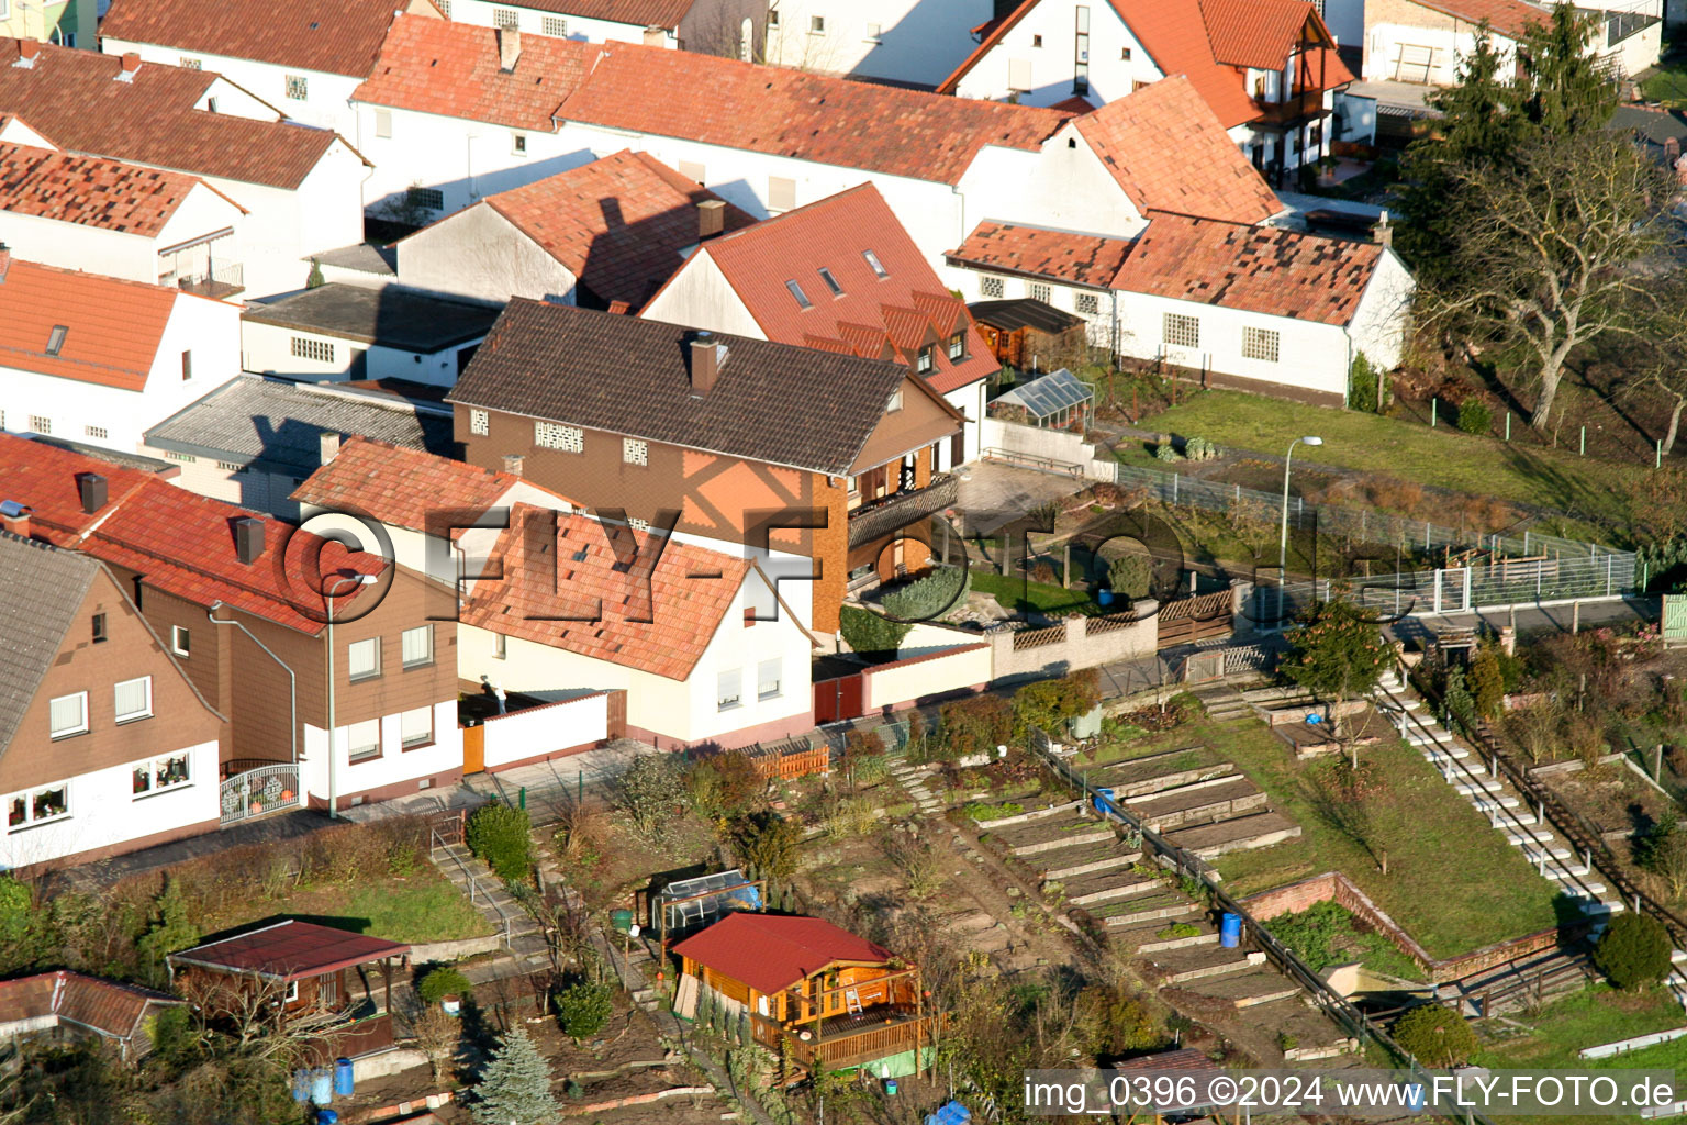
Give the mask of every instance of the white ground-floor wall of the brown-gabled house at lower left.
[[186, 751], [160, 747], [159, 752], [189, 756], [187, 784], [137, 796], [133, 771], [140, 762], [76, 774], [69, 779], [69, 816], [0, 835], [0, 870], [121, 847], [177, 828], [216, 825], [221, 818], [218, 744], [201, 742]]

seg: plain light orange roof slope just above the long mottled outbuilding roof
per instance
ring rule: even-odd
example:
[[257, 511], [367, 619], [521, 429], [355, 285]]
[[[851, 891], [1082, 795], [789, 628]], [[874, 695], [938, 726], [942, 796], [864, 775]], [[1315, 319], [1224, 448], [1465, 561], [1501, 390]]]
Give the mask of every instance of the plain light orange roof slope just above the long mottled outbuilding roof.
[[1108, 101], [1073, 128], [1144, 213], [1260, 223], [1282, 211], [1186, 78], [1162, 78]]

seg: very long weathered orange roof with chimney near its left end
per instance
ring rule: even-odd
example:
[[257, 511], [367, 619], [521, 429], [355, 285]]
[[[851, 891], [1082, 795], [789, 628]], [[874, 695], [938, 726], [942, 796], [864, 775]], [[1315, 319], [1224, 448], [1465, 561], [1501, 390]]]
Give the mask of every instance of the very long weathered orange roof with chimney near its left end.
[[550, 128], [555, 113], [941, 184], [985, 145], [1034, 150], [1070, 116], [623, 42], [523, 37], [501, 74], [493, 29], [410, 17], [354, 98], [511, 128]]

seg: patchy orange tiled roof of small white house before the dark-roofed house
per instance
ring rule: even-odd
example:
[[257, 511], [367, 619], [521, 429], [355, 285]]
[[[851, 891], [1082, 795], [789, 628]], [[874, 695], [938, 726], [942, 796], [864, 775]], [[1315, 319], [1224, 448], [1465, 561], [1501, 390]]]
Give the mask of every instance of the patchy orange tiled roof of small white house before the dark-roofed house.
[[493, 560], [501, 577], [474, 584], [462, 624], [668, 680], [692, 675], [751, 570], [747, 558], [528, 504], [509, 513]]

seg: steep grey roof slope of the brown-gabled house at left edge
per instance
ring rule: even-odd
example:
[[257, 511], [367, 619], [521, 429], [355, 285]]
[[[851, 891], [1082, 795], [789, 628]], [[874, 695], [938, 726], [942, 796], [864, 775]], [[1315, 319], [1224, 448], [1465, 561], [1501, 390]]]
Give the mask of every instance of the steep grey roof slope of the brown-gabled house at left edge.
[[12, 744], [100, 563], [0, 531], [0, 754]]

